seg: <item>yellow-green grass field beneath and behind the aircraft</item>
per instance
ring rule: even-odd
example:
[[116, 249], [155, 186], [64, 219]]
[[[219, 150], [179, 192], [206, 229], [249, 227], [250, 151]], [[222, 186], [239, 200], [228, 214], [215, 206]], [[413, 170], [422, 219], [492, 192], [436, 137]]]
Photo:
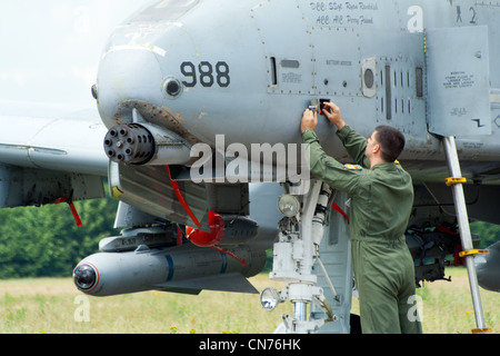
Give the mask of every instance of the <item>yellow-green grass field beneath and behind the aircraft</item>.
[[[470, 334], [476, 327], [467, 270], [447, 270], [452, 283], [426, 284], [423, 330], [427, 334]], [[261, 290], [267, 275], [251, 278]], [[500, 333], [500, 294], [481, 289], [484, 318]], [[353, 298], [352, 310], [358, 309]], [[70, 278], [0, 280], [0, 333], [2, 334], [266, 334], [292, 314], [290, 303], [273, 312], [260, 307], [258, 295], [202, 291], [199, 296], [148, 291], [107, 298], [86, 297]]]

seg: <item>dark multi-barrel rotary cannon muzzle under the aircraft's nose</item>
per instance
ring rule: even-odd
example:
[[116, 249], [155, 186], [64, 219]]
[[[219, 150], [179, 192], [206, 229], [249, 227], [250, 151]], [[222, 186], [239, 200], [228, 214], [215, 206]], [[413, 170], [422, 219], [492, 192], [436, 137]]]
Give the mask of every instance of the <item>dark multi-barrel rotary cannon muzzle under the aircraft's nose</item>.
[[114, 162], [144, 165], [154, 155], [154, 139], [141, 125], [118, 125], [106, 134], [104, 150]]

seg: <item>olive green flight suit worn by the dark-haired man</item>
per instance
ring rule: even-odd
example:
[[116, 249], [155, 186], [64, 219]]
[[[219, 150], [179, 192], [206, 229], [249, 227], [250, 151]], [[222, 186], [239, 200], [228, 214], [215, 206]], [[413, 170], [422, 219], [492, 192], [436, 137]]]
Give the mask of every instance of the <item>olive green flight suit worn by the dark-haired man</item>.
[[362, 168], [351, 169], [329, 157], [313, 131], [306, 131], [302, 139], [310, 145], [311, 175], [351, 198], [351, 251], [362, 332], [421, 333], [412, 297], [413, 259], [404, 238], [413, 205], [411, 176], [397, 162], [370, 169], [367, 139], [349, 126], [337, 135]]

